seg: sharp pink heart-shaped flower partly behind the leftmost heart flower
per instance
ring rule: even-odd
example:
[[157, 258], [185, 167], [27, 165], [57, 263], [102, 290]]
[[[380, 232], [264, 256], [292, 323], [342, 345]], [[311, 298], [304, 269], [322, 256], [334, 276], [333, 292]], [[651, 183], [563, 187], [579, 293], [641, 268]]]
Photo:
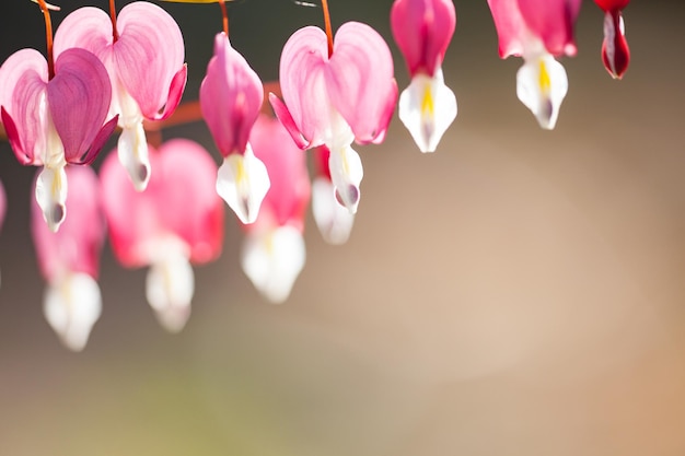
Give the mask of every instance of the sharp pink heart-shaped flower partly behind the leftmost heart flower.
[[150, 178], [144, 119], [169, 117], [178, 105], [187, 79], [183, 35], [162, 8], [137, 1], [121, 9], [116, 31], [98, 8], [79, 8], [55, 34], [55, 52], [82, 47], [95, 54], [112, 79], [111, 113], [119, 115], [121, 164], [137, 190]]

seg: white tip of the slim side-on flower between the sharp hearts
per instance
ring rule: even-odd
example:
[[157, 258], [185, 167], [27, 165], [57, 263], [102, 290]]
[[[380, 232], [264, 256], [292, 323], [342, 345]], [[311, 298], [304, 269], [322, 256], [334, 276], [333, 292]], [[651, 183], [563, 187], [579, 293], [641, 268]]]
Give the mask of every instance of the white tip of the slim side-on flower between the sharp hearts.
[[270, 187], [269, 174], [247, 143], [244, 154], [223, 159], [217, 174], [217, 194], [244, 224], [254, 223]]

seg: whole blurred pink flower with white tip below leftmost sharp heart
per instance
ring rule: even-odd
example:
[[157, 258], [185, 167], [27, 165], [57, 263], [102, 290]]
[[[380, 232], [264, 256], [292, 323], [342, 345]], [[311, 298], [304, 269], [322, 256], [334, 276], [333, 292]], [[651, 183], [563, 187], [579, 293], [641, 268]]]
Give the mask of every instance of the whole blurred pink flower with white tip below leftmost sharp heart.
[[81, 351], [102, 312], [97, 274], [106, 229], [95, 172], [90, 166], [66, 166], [65, 172], [71, 185], [66, 200], [69, 218], [53, 233], [34, 200], [31, 227], [47, 281], [45, 318], [65, 346]]

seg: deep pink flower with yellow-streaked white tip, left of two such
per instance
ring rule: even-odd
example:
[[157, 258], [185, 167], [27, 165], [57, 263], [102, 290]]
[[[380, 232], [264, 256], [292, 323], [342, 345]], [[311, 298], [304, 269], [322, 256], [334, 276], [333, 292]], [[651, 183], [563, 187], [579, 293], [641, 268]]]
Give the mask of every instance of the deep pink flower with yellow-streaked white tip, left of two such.
[[454, 3], [395, 0], [391, 25], [411, 77], [399, 96], [399, 119], [421, 152], [434, 152], [456, 117], [456, 98], [442, 75], [442, 61], [456, 25]]

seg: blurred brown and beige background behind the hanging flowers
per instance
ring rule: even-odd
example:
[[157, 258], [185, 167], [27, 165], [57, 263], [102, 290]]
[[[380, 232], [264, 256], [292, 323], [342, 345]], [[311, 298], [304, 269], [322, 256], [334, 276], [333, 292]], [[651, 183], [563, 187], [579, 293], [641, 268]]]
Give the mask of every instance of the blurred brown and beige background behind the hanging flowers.
[[[107, 7], [58, 3], [56, 25]], [[330, 12], [334, 27], [358, 20], [387, 39], [402, 90], [391, 3], [333, 0]], [[196, 100], [219, 8], [158, 4], [184, 32], [184, 100]], [[106, 246], [103, 315], [69, 352], [42, 313], [35, 169], [0, 143], [0, 455], [684, 455], [685, 3], [625, 10], [632, 62], [613, 81], [602, 11], [583, 1], [552, 132], [516, 100], [521, 61], [499, 59], [486, 1], [455, 4], [455, 122], [432, 155], [396, 117], [385, 143], [358, 149], [351, 238], [325, 244], [307, 215], [307, 264], [279, 306], [241, 271], [227, 210], [223, 255], [196, 269], [183, 332], [158, 325], [146, 271]], [[241, 0], [230, 16], [265, 81], [291, 33], [323, 24], [320, 5], [291, 0]], [[3, 1], [0, 59], [22, 47], [45, 52], [38, 7]], [[164, 131], [174, 137], [219, 162], [202, 122]]]

